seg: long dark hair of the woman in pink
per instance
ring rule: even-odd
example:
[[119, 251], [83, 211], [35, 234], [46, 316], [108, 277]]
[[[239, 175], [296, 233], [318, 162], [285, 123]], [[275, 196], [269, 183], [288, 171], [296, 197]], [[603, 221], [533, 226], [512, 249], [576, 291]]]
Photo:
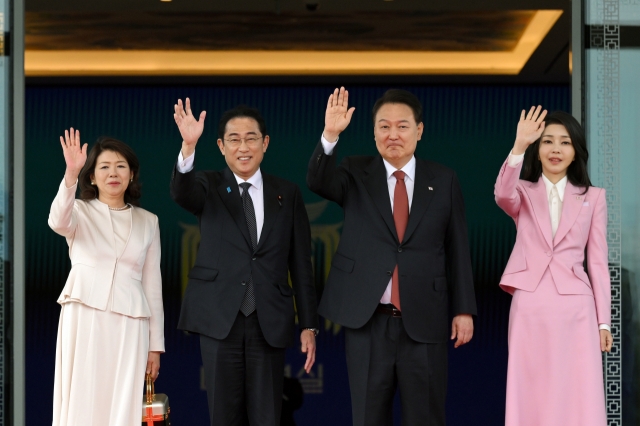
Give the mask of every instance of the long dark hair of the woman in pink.
[[[567, 179], [572, 185], [584, 188], [582, 194], [586, 194], [589, 190], [591, 180], [587, 170], [587, 160], [589, 159], [589, 151], [587, 150], [587, 140], [584, 136], [584, 129], [571, 114], [564, 111], [554, 111], [545, 117], [545, 127], [552, 124], [564, 126], [571, 138], [571, 144], [575, 151], [574, 160], [567, 169]], [[542, 175], [542, 163], [540, 162], [540, 139], [529, 145], [524, 153], [524, 162], [522, 164], [523, 180], [529, 182], [537, 182]]]

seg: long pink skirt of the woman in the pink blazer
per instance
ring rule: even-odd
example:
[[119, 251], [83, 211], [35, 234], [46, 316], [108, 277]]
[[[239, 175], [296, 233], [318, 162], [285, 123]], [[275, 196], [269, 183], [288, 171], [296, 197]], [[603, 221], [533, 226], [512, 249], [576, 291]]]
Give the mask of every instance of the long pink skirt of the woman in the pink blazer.
[[549, 269], [509, 315], [506, 426], [606, 426], [593, 296], [559, 294]]

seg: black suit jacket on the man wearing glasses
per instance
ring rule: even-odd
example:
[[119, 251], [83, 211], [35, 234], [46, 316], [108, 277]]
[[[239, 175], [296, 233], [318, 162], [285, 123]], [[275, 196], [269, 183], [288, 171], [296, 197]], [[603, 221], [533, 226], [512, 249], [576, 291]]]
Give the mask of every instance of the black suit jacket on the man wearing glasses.
[[200, 246], [189, 272], [179, 329], [226, 338], [251, 275], [258, 321], [271, 346], [291, 343], [294, 295], [300, 327], [317, 328], [311, 234], [302, 194], [284, 179], [266, 173], [262, 177], [264, 225], [254, 252], [231, 170], [180, 173], [174, 167], [171, 197], [200, 224]]

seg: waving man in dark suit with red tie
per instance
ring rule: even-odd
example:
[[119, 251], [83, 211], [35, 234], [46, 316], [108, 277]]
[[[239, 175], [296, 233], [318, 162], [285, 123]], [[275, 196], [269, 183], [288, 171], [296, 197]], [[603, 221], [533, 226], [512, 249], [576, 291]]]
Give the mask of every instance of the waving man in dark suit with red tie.
[[[414, 156], [422, 106], [389, 90], [373, 107], [380, 155], [336, 161], [354, 108], [329, 97], [307, 184], [344, 209], [319, 313], [345, 327], [354, 426], [445, 425], [447, 340], [471, 340], [475, 293], [464, 204], [453, 170]], [[449, 305], [453, 314], [449, 333]]]

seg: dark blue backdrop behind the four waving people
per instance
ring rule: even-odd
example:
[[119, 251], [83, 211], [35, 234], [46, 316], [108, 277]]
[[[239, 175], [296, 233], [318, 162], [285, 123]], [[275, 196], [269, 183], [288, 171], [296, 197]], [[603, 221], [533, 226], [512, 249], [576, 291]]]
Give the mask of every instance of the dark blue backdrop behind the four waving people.
[[[513, 144], [520, 110], [542, 104], [569, 110], [568, 86], [412, 86], [423, 102], [425, 132], [417, 155], [455, 169], [465, 196], [478, 317], [471, 343], [450, 350], [449, 425], [502, 425], [510, 296], [497, 284], [515, 237], [512, 221], [493, 201], [493, 184]], [[340, 155], [374, 154], [371, 107], [387, 87], [349, 87], [356, 107], [341, 136]], [[171, 400], [173, 424], [206, 424], [205, 392], [196, 336], [176, 330], [184, 277], [197, 247], [195, 219], [169, 197], [171, 169], [181, 139], [173, 104], [189, 96], [195, 111], [207, 111], [198, 145], [198, 168], [222, 168], [215, 145], [221, 113], [244, 103], [259, 108], [271, 144], [263, 170], [296, 182], [302, 189], [313, 234], [316, 284], [324, 283], [337, 246], [341, 209], [311, 193], [306, 165], [324, 125], [328, 86], [103, 86], [27, 88], [27, 412], [28, 425], [51, 424], [55, 343], [60, 312], [56, 299], [69, 271], [64, 238], [47, 226], [50, 203], [64, 173], [58, 136], [80, 129], [90, 145], [110, 135], [130, 144], [141, 160], [142, 205], [160, 218], [167, 352], [157, 391]], [[305, 402], [299, 425], [347, 426], [350, 397], [340, 326], [321, 321], [318, 357], [303, 374], [299, 348], [287, 352], [285, 374], [298, 377]], [[142, 384], [141, 384], [142, 390]], [[399, 424], [399, 417], [396, 419]]]

